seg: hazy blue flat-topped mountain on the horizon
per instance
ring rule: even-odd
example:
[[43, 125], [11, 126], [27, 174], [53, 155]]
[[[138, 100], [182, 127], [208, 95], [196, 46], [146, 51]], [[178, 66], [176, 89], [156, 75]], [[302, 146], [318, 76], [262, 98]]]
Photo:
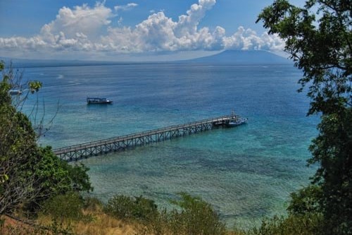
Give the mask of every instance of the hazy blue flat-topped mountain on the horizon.
[[[186, 61], [184, 61], [186, 62]], [[236, 65], [292, 65], [292, 61], [265, 51], [224, 51], [212, 56], [191, 59], [187, 62], [201, 64]]]

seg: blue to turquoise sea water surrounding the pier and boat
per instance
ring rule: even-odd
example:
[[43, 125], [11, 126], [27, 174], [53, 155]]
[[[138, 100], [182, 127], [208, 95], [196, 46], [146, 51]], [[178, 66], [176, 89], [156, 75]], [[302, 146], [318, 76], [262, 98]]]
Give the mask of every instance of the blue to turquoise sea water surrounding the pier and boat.
[[[134, 150], [92, 157], [93, 195], [144, 195], [160, 207], [184, 191], [199, 195], [230, 227], [282, 214], [289, 193], [308, 183], [308, 145], [316, 118], [298, 94], [291, 66], [125, 64], [26, 68], [43, 82], [45, 119], [58, 109], [42, 145], [64, 147], [213, 116], [237, 114], [249, 123], [218, 128]], [[112, 105], [85, 103], [107, 97]], [[35, 102], [31, 97], [25, 110]], [[59, 103], [59, 105], [58, 105]], [[28, 112], [28, 111], [27, 111]]]

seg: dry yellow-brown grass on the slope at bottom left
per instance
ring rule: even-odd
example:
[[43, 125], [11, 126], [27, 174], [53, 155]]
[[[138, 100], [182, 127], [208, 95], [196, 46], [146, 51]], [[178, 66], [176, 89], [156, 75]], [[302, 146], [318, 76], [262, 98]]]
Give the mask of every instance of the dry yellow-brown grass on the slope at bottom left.
[[[81, 219], [61, 219], [58, 221], [52, 215], [41, 214], [34, 221], [51, 229], [39, 229], [14, 219], [5, 218], [5, 226], [0, 234], [6, 235], [173, 235], [177, 233], [170, 229], [164, 219], [153, 220], [146, 223], [139, 219], [118, 219], [113, 215], [104, 212], [104, 205], [93, 202], [82, 208]], [[156, 224], [159, 223], [160, 224]], [[155, 229], [158, 227], [158, 229]], [[161, 229], [161, 230], [160, 230]], [[60, 232], [62, 231], [62, 232]], [[160, 231], [163, 231], [160, 233]], [[187, 234], [188, 235], [188, 234]], [[216, 234], [218, 235], [218, 234]], [[226, 235], [239, 235], [227, 232]]]

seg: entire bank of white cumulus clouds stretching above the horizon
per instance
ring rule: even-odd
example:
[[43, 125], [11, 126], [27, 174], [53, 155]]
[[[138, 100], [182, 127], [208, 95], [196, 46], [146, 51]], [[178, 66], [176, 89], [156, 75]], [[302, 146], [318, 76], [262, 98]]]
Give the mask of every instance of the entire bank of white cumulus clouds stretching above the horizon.
[[[163, 11], [152, 13], [134, 28], [123, 27], [122, 18], [113, 13], [104, 3], [94, 7], [87, 4], [73, 9], [63, 7], [56, 19], [47, 23], [34, 37], [0, 37], [0, 50], [18, 49], [46, 52], [89, 52], [94, 54], [121, 54], [143, 52], [181, 52], [192, 50], [220, 49], [265, 49], [280, 50], [284, 43], [275, 35], [258, 36], [255, 31], [239, 27], [227, 36], [224, 28], [215, 30], [199, 23], [216, 4], [215, 0], [199, 0], [186, 14], [172, 20]], [[130, 3], [115, 6], [115, 11], [127, 11], [136, 7]], [[113, 27], [113, 20], [118, 27]]]

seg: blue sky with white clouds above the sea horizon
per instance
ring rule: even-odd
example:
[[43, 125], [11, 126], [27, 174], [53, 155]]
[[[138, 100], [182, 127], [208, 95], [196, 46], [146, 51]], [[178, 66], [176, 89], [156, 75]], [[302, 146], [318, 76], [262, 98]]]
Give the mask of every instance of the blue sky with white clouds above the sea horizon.
[[0, 0], [0, 56], [163, 61], [225, 49], [279, 53], [284, 42], [255, 23], [272, 2]]

